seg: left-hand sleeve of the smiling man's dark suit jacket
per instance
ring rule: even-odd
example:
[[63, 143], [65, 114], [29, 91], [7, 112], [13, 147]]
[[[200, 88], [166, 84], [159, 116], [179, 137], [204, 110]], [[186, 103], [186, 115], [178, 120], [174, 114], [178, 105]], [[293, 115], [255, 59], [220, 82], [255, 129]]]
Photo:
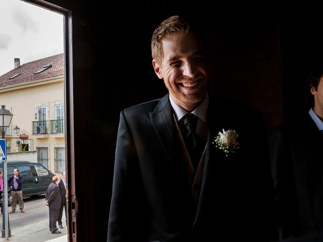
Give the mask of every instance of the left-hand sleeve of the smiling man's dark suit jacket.
[[[129, 119], [130, 120], [130, 119]], [[136, 120], [131, 119], [133, 123]], [[145, 241], [143, 189], [134, 139], [124, 111], [120, 114], [113, 194], [111, 201], [107, 241]]]

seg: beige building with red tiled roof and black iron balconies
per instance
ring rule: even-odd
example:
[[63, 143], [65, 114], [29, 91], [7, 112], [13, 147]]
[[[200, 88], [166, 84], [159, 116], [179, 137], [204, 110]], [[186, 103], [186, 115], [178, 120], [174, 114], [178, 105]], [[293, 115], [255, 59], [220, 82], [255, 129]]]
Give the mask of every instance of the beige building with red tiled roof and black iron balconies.
[[[21, 66], [15, 58], [15, 69], [0, 76], [0, 105], [13, 114], [6, 131], [7, 159], [39, 162], [51, 171], [64, 171], [63, 53]], [[16, 126], [19, 134], [14, 132]]]

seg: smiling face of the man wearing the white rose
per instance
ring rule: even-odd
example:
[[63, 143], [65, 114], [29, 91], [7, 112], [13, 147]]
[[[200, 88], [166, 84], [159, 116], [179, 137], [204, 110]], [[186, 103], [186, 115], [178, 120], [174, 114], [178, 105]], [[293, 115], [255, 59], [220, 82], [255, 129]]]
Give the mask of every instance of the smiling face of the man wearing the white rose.
[[154, 63], [155, 72], [180, 105], [197, 104], [205, 96], [208, 82], [206, 58], [196, 38], [191, 33], [170, 33], [165, 35], [164, 58], [159, 65]]

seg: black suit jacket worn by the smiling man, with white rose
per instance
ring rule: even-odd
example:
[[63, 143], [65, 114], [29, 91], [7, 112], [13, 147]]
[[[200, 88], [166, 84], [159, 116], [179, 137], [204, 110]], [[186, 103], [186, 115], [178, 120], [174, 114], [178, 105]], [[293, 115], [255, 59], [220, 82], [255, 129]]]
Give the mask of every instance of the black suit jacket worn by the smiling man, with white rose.
[[[212, 144], [236, 130], [241, 148]], [[210, 101], [197, 210], [169, 96], [120, 114], [107, 241], [267, 241], [275, 238], [274, 189], [261, 113]]]

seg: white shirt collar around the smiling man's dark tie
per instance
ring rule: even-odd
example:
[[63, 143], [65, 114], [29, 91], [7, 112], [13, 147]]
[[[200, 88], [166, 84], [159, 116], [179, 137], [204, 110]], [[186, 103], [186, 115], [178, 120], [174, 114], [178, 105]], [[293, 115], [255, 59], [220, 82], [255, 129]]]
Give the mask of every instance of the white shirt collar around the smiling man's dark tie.
[[[171, 95], [169, 95], [169, 97], [170, 97], [171, 105], [173, 107], [176, 119], [177, 121], [179, 121], [187, 113], [187, 111], [185, 111], [182, 107], [177, 105], [173, 101]], [[203, 101], [192, 111], [192, 113], [194, 113], [204, 123], [206, 123], [206, 120], [207, 120], [207, 107], [208, 107], [208, 95], [206, 93]]]

